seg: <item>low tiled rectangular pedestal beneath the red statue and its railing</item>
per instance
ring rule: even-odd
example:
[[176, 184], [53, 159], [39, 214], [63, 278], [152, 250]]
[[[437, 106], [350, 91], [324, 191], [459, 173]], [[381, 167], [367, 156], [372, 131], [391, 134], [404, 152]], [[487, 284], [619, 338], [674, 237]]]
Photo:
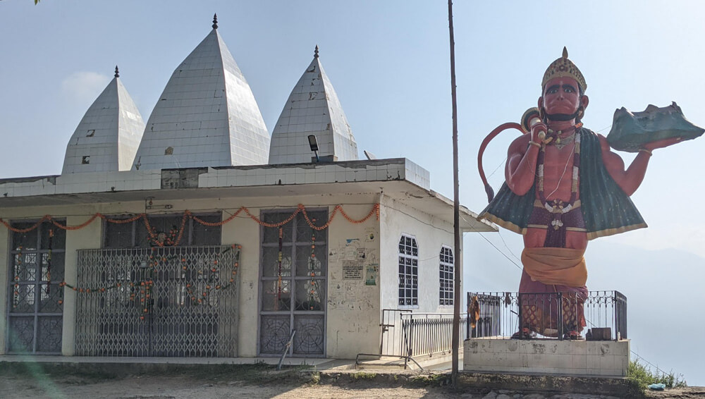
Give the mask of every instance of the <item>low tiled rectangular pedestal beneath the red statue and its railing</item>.
[[514, 340], [470, 338], [463, 343], [465, 372], [625, 377], [629, 340]]

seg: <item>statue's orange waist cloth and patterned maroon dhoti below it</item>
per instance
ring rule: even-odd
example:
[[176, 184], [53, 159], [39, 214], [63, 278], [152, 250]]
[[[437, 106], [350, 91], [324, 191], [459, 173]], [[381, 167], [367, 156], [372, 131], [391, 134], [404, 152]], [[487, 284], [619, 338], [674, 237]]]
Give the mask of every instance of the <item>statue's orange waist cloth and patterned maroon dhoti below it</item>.
[[560, 321], [564, 333], [582, 331], [587, 299], [584, 253], [571, 248], [525, 248], [519, 284], [520, 327], [555, 337]]

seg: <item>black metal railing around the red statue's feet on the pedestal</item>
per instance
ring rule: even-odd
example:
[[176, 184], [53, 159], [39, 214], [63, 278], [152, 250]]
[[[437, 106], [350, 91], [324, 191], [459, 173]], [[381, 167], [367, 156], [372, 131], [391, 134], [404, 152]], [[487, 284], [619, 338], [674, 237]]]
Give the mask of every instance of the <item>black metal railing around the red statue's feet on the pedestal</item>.
[[627, 338], [627, 297], [618, 291], [467, 293], [466, 338]]

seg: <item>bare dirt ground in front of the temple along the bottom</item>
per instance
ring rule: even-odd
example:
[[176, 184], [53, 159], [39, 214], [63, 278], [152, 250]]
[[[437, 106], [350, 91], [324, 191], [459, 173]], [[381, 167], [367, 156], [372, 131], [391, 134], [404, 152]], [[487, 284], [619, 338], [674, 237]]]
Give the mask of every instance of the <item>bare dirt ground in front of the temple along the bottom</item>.
[[[176, 375], [175, 375], [176, 374]], [[531, 391], [458, 391], [445, 377], [418, 376], [380, 381], [359, 373], [343, 381], [319, 381], [316, 374], [300, 370], [226, 369], [223, 372], [165, 373], [115, 376], [102, 372], [32, 372], [4, 370], [0, 373], [0, 398], [110, 398], [110, 399], [202, 399], [202, 398], [462, 398], [462, 399], [611, 399], [606, 395], [556, 394]], [[528, 389], [528, 387], [527, 387]], [[689, 387], [648, 398], [705, 398], [705, 388]]]

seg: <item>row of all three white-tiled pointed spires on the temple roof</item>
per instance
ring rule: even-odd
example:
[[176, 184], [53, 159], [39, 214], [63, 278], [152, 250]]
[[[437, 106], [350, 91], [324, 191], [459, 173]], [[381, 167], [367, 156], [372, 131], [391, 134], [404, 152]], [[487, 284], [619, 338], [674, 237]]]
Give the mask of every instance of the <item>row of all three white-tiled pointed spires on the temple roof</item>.
[[115, 77], [66, 148], [64, 173], [154, 170], [357, 159], [357, 144], [318, 56], [293, 88], [269, 137], [255, 95], [213, 29], [173, 71], [145, 124]]

